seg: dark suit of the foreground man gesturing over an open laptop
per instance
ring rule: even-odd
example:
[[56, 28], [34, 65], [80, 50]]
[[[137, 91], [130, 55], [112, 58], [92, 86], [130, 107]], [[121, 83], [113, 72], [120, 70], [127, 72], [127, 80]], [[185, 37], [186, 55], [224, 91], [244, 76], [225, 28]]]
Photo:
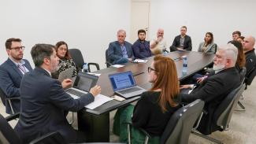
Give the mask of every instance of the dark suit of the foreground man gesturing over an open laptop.
[[77, 131], [66, 120], [65, 111], [76, 112], [94, 99], [90, 93], [73, 99], [46, 70], [35, 68], [20, 83], [20, 120], [14, 130], [24, 143], [52, 131], [60, 132], [67, 142], [76, 142]]

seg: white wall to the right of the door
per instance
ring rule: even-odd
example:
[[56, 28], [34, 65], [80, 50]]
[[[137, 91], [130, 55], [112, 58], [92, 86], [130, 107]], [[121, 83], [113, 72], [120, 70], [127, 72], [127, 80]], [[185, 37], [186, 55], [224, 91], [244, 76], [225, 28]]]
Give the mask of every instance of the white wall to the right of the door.
[[170, 46], [186, 25], [195, 51], [206, 31], [213, 32], [217, 45], [231, 40], [236, 30], [255, 37], [255, 6], [254, 0], [151, 0], [150, 34], [155, 36], [158, 28], [164, 28]]

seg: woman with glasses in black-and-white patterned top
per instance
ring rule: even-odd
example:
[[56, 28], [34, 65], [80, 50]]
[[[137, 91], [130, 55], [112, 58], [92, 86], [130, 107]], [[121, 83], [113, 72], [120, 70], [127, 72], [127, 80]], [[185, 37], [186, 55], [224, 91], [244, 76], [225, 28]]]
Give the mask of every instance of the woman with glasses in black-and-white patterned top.
[[65, 71], [68, 68], [74, 68], [72, 77], [77, 76], [76, 64], [72, 61], [72, 57], [69, 54], [68, 44], [66, 42], [60, 41], [55, 45], [55, 50], [57, 56], [60, 58], [59, 69], [57, 72], [53, 73], [53, 77], [58, 79], [58, 76], [61, 72]]

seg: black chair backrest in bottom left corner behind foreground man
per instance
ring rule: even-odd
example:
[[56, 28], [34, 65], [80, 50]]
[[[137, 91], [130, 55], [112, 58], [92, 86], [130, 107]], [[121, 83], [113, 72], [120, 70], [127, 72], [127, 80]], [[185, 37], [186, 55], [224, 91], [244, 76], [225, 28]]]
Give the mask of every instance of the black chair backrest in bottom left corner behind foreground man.
[[2, 140], [7, 141], [9, 144], [21, 143], [21, 140], [16, 134], [16, 132], [13, 130], [13, 128], [9, 125], [7, 120], [1, 114], [0, 114], [0, 131], [1, 131], [0, 143]]

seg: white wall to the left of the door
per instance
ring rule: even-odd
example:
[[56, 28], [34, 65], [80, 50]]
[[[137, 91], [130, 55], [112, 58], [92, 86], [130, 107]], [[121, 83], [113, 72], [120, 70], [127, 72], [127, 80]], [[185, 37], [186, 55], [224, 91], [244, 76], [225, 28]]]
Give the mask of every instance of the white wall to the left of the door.
[[35, 43], [64, 40], [79, 48], [85, 61], [105, 68], [105, 50], [117, 40], [117, 30], [126, 30], [129, 39], [130, 11], [129, 0], [2, 0], [0, 64], [7, 58], [6, 39], [14, 37], [23, 40], [24, 58], [31, 63]]

